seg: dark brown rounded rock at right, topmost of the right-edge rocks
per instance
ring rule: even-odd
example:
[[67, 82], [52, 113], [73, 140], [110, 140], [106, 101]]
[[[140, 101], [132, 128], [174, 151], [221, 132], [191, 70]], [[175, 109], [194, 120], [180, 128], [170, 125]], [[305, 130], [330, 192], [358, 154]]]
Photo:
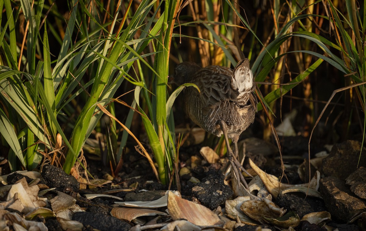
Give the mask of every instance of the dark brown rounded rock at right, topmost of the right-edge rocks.
[[[360, 151], [361, 143], [358, 141], [347, 140], [341, 144], [335, 144], [329, 156], [323, 159], [322, 173], [325, 176], [346, 179], [357, 169]], [[363, 151], [366, 151], [365, 147]], [[365, 153], [361, 154], [359, 166], [366, 167]]]

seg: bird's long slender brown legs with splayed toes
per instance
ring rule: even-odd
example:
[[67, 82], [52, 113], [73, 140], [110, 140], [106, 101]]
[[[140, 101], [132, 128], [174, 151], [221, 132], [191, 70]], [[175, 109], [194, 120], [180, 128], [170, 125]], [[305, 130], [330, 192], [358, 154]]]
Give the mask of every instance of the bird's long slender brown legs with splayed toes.
[[[231, 164], [231, 167], [234, 171], [234, 174], [236, 176], [236, 179], [238, 180], [238, 185], [240, 187], [240, 181], [243, 182], [244, 186], [249, 189], [249, 186], [247, 184], [247, 182], [245, 181], [243, 174], [241, 174], [238, 170], [241, 169], [243, 170], [245, 173], [249, 174], [247, 172], [247, 170], [245, 170], [245, 168], [239, 163], [238, 159], [236, 159], [236, 156], [239, 152], [238, 150], [238, 142], [234, 142], [235, 143], [235, 154], [232, 151], [232, 149], [230, 148], [230, 143], [229, 143], [229, 138], [228, 138], [228, 132], [227, 132], [227, 124], [225, 123], [225, 121], [220, 120], [220, 127], [221, 130], [223, 131], [224, 137], [225, 137], [225, 142], [226, 142], [226, 147], [227, 147], [227, 151], [228, 151], [228, 159], [229, 162]], [[250, 174], [249, 174], [250, 175]]]

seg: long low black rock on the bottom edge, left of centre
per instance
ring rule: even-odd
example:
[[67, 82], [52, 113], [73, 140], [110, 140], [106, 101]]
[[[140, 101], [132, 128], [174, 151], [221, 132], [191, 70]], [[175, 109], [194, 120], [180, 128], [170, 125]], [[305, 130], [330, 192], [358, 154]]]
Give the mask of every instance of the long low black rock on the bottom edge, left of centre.
[[126, 221], [103, 213], [76, 212], [72, 215], [72, 220], [79, 221], [84, 226], [91, 226], [101, 231], [127, 231], [131, 228], [131, 225]]

